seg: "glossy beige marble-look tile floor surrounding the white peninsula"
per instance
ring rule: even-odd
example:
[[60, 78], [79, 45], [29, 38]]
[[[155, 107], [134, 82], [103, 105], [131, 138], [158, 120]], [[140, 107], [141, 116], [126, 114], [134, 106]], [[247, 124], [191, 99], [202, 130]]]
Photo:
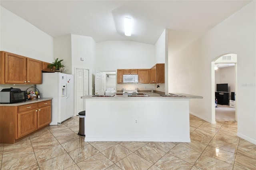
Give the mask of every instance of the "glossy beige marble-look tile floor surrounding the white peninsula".
[[190, 115], [191, 142], [84, 142], [79, 117], [16, 144], [0, 144], [2, 170], [256, 170], [256, 145], [236, 136], [236, 122]]

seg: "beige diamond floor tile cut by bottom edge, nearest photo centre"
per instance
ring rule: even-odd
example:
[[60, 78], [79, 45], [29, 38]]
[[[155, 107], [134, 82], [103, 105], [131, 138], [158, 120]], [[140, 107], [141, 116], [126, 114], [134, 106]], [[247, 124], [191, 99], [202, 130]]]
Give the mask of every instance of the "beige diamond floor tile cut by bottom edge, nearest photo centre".
[[146, 170], [153, 164], [137, 154], [132, 153], [119, 162], [116, 162], [116, 165], [122, 170]]

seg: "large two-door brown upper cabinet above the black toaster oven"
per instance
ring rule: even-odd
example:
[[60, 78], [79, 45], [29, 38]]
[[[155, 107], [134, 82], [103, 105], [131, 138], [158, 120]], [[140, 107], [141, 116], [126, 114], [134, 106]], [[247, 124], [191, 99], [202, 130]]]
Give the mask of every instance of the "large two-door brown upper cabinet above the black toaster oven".
[[42, 61], [0, 51], [0, 84], [41, 84]]

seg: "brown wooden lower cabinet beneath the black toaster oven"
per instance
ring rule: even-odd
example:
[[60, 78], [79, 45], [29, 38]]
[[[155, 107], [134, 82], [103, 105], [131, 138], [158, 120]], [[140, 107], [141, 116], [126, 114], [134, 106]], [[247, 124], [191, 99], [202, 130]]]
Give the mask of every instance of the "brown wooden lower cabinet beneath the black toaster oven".
[[0, 106], [0, 143], [15, 143], [51, 123], [51, 100]]

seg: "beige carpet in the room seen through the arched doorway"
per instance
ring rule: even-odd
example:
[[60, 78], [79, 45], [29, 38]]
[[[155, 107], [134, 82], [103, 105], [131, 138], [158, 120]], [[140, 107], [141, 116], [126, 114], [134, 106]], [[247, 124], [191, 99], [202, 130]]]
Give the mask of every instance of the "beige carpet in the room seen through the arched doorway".
[[215, 107], [216, 121], [235, 121], [236, 109], [228, 105], [217, 105]]

